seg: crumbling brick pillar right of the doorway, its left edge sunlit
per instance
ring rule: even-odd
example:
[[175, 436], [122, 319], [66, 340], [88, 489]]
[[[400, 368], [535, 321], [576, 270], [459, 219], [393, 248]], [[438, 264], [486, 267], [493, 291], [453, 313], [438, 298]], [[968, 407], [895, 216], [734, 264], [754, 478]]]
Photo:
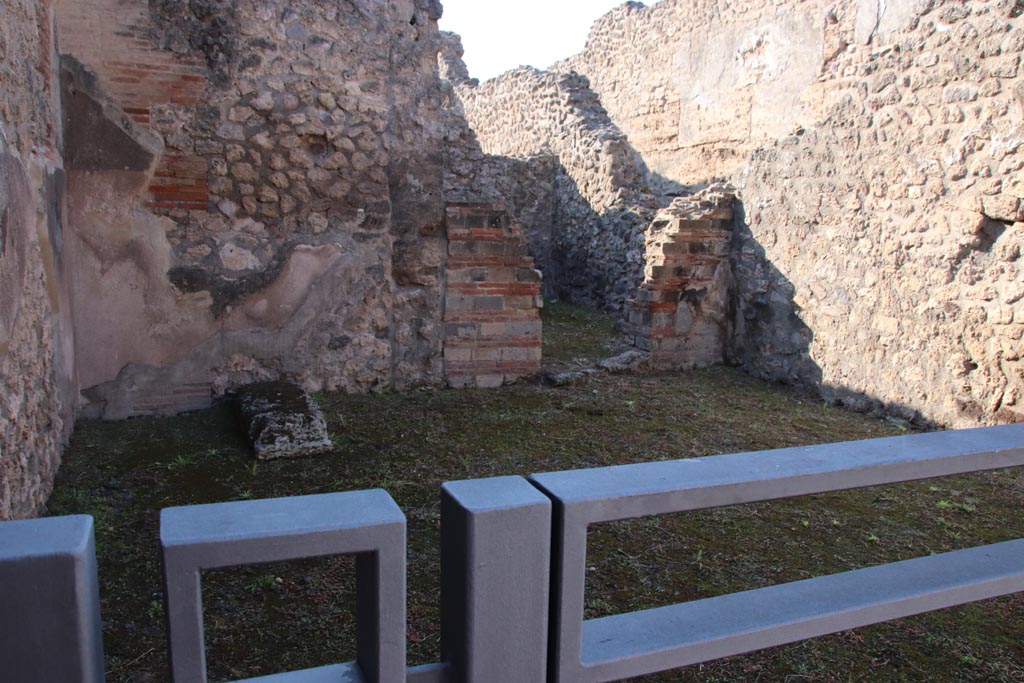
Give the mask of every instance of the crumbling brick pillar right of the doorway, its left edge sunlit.
[[729, 249], [734, 196], [710, 188], [676, 199], [647, 228], [644, 282], [628, 332], [655, 368], [723, 361], [730, 335]]

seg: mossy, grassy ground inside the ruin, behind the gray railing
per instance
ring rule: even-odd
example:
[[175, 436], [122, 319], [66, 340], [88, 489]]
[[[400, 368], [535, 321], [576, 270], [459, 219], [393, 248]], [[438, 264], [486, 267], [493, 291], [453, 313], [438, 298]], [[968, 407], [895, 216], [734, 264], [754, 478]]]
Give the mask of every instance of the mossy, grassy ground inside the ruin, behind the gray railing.
[[[256, 463], [230, 408], [82, 422], [53, 514], [96, 518], [108, 680], [168, 681], [163, 507], [381, 486], [409, 518], [412, 664], [438, 657], [442, 481], [888, 436], [728, 369], [570, 387], [321, 396], [335, 450]], [[1024, 536], [1024, 478], [994, 472], [596, 526], [587, 615], [628, 611]], [[345, 558], [204, 575], [212, 681], [351, 658]], [[1020, 681], [1024, 600], [991, 600], [645, 681]]]

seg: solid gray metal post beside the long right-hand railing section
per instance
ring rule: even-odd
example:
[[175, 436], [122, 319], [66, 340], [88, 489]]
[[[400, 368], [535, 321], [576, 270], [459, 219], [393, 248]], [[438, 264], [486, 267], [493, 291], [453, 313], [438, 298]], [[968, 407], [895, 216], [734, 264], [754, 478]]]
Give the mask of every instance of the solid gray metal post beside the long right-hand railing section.
[[441, 486], [441, 656], [453, 683], [544, 683], [551, 501], [522, 477]]

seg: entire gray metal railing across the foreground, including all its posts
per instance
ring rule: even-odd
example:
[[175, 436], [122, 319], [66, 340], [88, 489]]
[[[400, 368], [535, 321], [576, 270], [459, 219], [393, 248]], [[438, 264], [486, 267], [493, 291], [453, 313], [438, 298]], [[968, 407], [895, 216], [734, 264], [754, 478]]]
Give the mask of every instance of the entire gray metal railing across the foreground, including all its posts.
[[[1020, 465], [1024, 424], [445, 483], [443, 661], [410, 669], [406, 518], [387, 493], [170, 508], [173, 679], [206, 681], [203, 570], [330, 554], [356, 558], [356, 661], [246, 683], [615, 681], [1016, 593], [1024, 540], [601, 618], [583, 609], [594, 523]], [[4, 681], [103, 680], [96, 587], [91, 518], [0, 523]]]

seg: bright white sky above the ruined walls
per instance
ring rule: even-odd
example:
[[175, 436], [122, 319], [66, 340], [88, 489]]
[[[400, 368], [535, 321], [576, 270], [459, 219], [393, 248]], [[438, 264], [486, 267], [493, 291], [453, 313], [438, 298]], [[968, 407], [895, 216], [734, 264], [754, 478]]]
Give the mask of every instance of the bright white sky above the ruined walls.
[[575, 54], [594, 20], [625, 1], [441, 0], [438, 26], [462, 36], [469, 75], [482, 81], [521, 65], [545, 69]]

